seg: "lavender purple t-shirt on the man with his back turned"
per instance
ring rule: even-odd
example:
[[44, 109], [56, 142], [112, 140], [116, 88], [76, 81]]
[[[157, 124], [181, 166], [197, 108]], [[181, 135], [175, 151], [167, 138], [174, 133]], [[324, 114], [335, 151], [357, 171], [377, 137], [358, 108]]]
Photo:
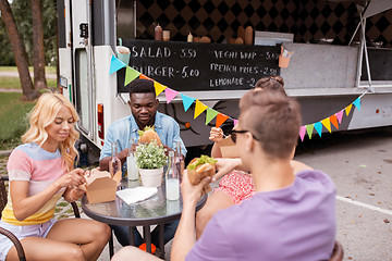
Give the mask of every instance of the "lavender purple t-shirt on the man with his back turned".
[[319, 171], [219, 211], [186, 260], [329, 260], [335, 241], [335, 186]]

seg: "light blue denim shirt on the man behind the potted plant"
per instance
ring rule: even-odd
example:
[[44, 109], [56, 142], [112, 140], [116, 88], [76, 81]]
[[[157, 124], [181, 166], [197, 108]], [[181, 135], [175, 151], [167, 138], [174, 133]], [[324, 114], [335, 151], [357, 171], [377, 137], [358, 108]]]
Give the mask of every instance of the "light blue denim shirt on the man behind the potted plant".
[[[99, 160], [102, 160], [106, 157], [111, 157], [111, 142], [117, 142], [118, 152], [126, 149], [128, 147], [128, 141], [132, 138], [136, 142], [138, 140], [137, 130], [139, 130], [139, 128], [132, 114], [130, 116], [113, 122], [109, 126], [105, 136], [105, 144], [101, 149]], [[185, 158], [186, 149], [184, 142], [180, 137], [180, 126], [174, 121], [174, 119], [157, 112], [155, 117], [154, 130], [157, 132], [162, 144], [169, 146], [172, 149], [174, 149], [174, 145], [176, 141], [181, 141], [181, 152]], [[122, 171], [123, 173], [126, 171], [126, 164], [123, 164]]]

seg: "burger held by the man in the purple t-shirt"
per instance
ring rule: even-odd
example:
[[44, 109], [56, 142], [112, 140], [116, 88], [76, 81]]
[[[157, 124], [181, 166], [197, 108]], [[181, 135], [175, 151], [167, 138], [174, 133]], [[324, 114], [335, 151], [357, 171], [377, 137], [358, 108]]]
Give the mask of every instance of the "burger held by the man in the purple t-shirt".
[[[212, 177], [216, 173], [215, 164], [217, 160], [208, 156], [200, 156], [200, 158], [193, 159], [186, 166], [187, 175], [192, 185], [199, 184], [203, 178], [210, 176]], [[211, 191], [210, 185], [206, 185], [203, 189], [204, 192]]]

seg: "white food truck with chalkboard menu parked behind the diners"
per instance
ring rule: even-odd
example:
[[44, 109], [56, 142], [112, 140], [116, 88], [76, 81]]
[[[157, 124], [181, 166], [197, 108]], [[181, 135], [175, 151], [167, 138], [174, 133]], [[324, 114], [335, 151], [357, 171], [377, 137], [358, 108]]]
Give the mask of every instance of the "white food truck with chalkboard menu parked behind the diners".
[[[235, 123], [244, 92], [275, 74], [302, 105], [302, 138], [392, 124], [389, 0], [57, 5], [60, 86], [79, 113], [83, 139], [98, 150], [109, 125], [131, 113], [128, 70], [166, 88], [159, 111], [176, 120], [189, 149], [211, 144], [211, 126]], [[156, 29], [168, 39], [155, 40]]]

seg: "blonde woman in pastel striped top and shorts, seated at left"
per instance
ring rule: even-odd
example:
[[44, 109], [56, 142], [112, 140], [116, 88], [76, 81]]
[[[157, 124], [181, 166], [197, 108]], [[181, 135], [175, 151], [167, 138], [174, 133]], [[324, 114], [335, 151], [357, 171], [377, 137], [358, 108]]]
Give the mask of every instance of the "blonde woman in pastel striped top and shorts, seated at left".
[[[0, 226], [21, 240], [27, 260], [97, 260], [106, 246], [108, 225], [83, 219], [53, 220], [60, 197], [69, 202], [84, 191], [82, 169], [74, 169], [78, 121], [71, 102], [59, 94], [44, 94], [29, 115], [7, 165], [10, 187]], [[0, 260], [19, 260], [12, 243], [0, 236]]]

